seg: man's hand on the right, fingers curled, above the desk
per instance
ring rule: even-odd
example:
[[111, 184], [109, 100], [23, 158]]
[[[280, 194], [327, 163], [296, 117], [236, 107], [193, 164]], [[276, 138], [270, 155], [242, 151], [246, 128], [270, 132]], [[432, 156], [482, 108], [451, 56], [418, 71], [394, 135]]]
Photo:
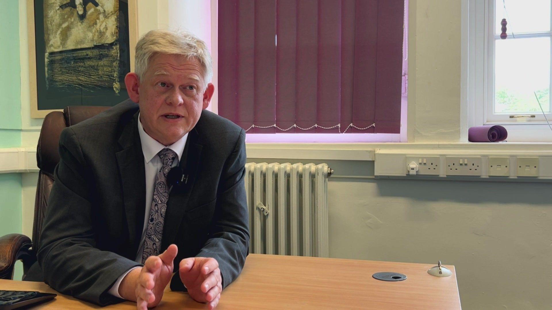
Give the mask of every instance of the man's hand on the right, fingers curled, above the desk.
[[209, 310], [216, 307], [222, 292], [219, 263], [214, 258], [192, 257], [180, 262], [179, 274], [188, 288], [190, 297], [198, 302], [208, 302]]

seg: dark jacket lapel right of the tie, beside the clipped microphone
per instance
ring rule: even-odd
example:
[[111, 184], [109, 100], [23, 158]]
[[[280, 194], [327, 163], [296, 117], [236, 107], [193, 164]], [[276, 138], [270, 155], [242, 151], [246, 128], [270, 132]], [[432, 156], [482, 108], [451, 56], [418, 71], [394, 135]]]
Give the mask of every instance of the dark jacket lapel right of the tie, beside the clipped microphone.
[[[188, 182], [183, 186], [173, 186], [169, 193], [167, 202], [167, 211], [165, 213], [165, 221], [163, 225], [163, 239], [161, 241], [161, 252], [169, 245], [174, 243], [174, 239], [178, 229], [182, 223], [184, 211], [187, 209], [188, 200], [195, 183], [195, 177], [198, 171], [199, 159], [203, 145], [199, 143], [199, 134], [196, 129], [190, 131], [188, 135], [189, 145], [187, 156], [183, 156], [180, 166], [186, 167], [186, 172], [189, 174]], [[186, 151], [184, 151], [186, 152]], [[185, 161], [185, 162], [184, 162]], [[170, 186], [170, 185], [169, 185]]]

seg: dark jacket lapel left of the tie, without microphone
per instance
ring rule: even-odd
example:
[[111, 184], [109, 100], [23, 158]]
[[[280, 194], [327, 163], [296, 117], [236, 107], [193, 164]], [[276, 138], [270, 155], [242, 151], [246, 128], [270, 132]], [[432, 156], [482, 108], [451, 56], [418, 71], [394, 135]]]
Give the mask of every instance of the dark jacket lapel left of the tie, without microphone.
[[144, 153], [142, 152], [137, 119], [138, 112], [121, 132], [119, 145], [122, 149], [116, 153], [121, 185], [123, 186], [123, 201], [130, 244], [132, 244], [133, 250], [131, 255], [136, 255], [140, 246], [144, 214], [146, 212]]

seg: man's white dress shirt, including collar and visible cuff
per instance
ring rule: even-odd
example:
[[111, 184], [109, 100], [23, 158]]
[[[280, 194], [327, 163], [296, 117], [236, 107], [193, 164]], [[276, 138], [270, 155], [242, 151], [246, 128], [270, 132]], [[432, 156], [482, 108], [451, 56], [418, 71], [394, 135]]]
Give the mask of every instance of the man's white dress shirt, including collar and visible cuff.
[[[140, 133], [140, 142], [142, 144], [142, 153], [144, 153], [144, 167], [146, 169], [146, 213], [144, 215], [144, 227], [142, 227], [142, 238], [140, 238], [140, 248], [138, 248], [138, 253], [136, 253], [136, 258], [134, 259], [138, 263], [142, 263], [142, 252], [144, 252], [144, 239], [146, 238], [146, 228], [147, 223], [150, 220], [150, 209], [151, 202], [153, 199], [153, 185], [155, 185], [155, 179], [157, 178], [157, 173], [162, 167], [162, 162], [157, 153], [163, 148], [170, 148], [177, 154], [177, 158], [174, 159], [172, 167], [176, 167], [182, 158], [182, 152], [184, 151], [184, 146], [186, 145], [186, 140], [188, 139], [188, 133], [186, 133], [180, 140], [174, 142], [172, 145], [164, 146], [159, 143], [154, 138], [150, 137], [142, 126], [140, 121], [140, 115], [138, 115], [138, 132]], [[127, 270], [122, 274], [115, 284], [109, 289], [109, 293], [115, 297], [123, 298], [119, 295], [119, 285], [123, 278], [132, 270], [134, 267]]]

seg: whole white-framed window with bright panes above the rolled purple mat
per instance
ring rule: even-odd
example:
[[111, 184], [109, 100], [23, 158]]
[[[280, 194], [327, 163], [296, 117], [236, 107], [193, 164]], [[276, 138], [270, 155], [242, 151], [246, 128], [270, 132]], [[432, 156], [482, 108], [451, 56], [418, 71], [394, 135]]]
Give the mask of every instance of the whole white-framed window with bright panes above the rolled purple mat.
[[470, 0], [464, 9], [469, 125], [504, 125], [511, 142], [552, 141], [551, 1]]

